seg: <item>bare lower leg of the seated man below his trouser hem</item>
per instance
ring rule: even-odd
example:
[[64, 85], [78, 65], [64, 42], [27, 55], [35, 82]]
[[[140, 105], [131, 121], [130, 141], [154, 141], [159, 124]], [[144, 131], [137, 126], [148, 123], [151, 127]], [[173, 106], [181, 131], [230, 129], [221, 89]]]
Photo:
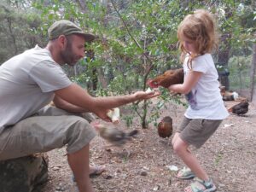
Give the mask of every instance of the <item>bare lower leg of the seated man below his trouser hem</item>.
[[89, 177], [89, 144], [73, 154], [67, 154], [67, 160], [78, 183], [79, 192], [94, 192]]

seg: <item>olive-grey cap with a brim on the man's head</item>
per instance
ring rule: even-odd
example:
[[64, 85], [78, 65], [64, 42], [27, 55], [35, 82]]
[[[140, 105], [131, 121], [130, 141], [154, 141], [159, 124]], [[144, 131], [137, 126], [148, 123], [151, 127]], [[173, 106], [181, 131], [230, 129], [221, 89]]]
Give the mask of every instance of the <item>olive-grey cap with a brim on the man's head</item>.
[[57, 20], [48, 29], [49, 40], [58, 38], [60, 35], [81, 34], [85, 41], [91, 42], [96, 37], [90, 32], [84, 32], [79, 26], [69, 20]]

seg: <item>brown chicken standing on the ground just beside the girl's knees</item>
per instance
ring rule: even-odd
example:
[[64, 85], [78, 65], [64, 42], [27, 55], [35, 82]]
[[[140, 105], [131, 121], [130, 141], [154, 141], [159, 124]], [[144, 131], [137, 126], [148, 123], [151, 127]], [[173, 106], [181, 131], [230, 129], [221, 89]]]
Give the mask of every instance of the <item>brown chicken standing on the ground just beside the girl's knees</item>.
[[160, 123], [157, 126], [158, 135], [160, 137], [166, 138], [172, 136], [172, 118], [166, 116], [161, 119]]

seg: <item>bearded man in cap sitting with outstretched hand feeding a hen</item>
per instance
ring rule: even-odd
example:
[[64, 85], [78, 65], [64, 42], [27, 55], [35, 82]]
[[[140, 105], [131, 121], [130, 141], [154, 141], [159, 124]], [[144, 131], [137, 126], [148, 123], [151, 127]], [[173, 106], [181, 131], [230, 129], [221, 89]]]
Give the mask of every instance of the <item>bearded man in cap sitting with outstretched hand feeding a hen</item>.
[[[0, 67], [0, 160], [61, 148], [80, 192], [93, 192], [89, 178], [89, 143], [96, 136], [89, 122], [73, 113], [91, 112], [110, 121], [108, 110], [159, 96], [137, 91], [127, 96], [93, 97], [72, 83], [61, 65], [84, 57], [84, 43], [94, 36], [68, 20], [49, 27], [46, 48], [36, 46]], [[47, 106], [53, 101], [56, 108]], [[63, 109], [63, 110], [62, 110]]]

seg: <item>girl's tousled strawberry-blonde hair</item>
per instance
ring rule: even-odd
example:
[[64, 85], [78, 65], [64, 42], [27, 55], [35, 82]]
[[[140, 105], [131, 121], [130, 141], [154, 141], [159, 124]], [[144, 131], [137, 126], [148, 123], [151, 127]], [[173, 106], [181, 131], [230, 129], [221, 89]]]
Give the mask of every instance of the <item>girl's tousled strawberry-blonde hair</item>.
[[[193, 14], [185, 16], [177, 27], [177, 38], [182, 51], [180, 60], [183, 62], [185, 55], [189, 54], [188, 67], [192, 68], [196, 56], [218, 49], [218, 32], [213, 15], [204, 9], [197, 9]], [[195, 53], [191, 54], [184, 48], [183, 38], [189, 38], [195, 43]]]

